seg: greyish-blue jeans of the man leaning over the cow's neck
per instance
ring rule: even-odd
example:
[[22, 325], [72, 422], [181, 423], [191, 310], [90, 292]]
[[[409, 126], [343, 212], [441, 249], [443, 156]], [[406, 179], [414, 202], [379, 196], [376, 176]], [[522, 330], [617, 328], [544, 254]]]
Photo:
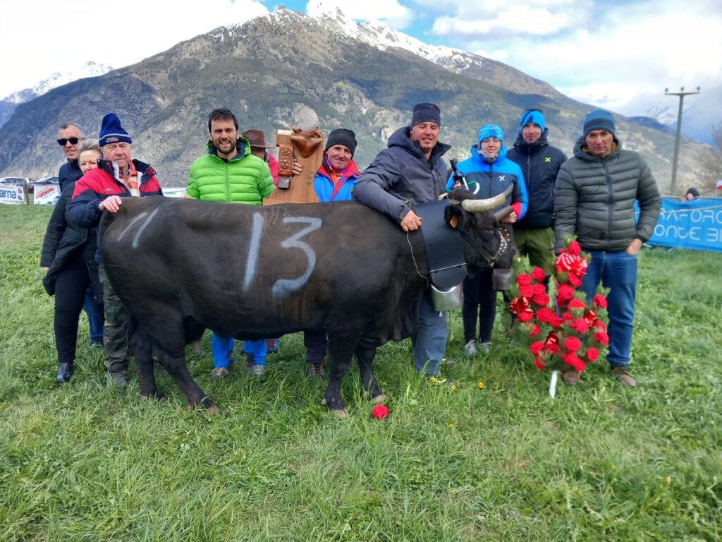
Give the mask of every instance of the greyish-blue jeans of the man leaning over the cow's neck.
[[432, 309], [431, 295], [424, 294], [419, 307], [419, 330], [411, 337], [414, 348], [414, 368], [419, 373], [439, 374], [439, 366], [446, 351], [447, 314]]

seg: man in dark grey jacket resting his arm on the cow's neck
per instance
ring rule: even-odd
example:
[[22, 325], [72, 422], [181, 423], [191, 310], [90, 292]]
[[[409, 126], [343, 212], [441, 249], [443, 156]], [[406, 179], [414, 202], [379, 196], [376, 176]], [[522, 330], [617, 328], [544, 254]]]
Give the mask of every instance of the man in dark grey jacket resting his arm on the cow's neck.
[[[393, 132], [388, 148], [361, 174], [355, 199], [396, 220], [404, 231], [419, 229], [421, 218], [409, 204], [435, 202], [444, 192], [447, 170], [441, 157], [451, 146], [439, 142], [440, 126], [438, 106], [414, 106], [411, 124]], [[446, 313], [434, 311], [426, 293], [419, 308], [419, 329], [412, 336], [414, 367], [431, 382], [453, 389], [453, 382], [440, 377], [446, 336]]]

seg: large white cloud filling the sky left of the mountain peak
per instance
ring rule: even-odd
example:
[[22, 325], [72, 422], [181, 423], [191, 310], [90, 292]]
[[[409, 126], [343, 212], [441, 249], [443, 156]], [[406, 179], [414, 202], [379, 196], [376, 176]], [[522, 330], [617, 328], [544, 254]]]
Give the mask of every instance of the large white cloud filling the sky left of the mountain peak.
[[260, 1], [4, 2], [0, 98], [87, 61], [120, 68], [219, 26], [268, 13]]

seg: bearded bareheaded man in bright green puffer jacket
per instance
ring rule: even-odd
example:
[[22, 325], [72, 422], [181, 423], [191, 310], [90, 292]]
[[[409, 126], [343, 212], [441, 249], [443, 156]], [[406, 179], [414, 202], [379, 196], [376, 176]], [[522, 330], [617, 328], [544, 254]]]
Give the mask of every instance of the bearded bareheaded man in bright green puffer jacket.
[[[238, 134], [238, 119], [226, 108], [208, 116], [208, 153], [191, 165], [186, 194], [204, 202], [263, 205], [274, 184], [268, 164], [251, 154], [251, 144]], [[230, 374], [233, 338], [213, 334], [212, 379]], [[266, 340], [245, 341], [248, 371], [261, 377], [266, 371]]]

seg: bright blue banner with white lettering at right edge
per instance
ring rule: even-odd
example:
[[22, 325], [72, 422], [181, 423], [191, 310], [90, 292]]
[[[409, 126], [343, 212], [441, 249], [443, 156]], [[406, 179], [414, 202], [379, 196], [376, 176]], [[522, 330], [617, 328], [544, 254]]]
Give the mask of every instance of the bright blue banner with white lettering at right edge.
[[662, 210], [648, 241], [677, 249], [722, 252], [722, 199], [697, 198], [687, 202], [662, 198]]

